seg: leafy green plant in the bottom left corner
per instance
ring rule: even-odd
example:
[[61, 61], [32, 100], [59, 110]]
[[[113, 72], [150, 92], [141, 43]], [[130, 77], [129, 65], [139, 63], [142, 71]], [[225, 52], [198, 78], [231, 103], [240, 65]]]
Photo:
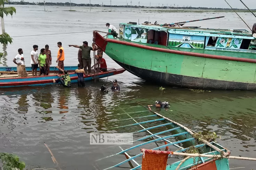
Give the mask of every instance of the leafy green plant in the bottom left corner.
[[11, 153], [0, 153], [0, 161], [3, 164], [3, 170], [23, 170], [26, 166], [17, 155]]

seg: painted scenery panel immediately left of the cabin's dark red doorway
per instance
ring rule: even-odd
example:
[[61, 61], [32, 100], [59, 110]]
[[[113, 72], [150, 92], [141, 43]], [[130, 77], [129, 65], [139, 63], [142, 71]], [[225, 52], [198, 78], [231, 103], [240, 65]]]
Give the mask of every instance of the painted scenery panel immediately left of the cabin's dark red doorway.
[[132, 27], [131, 41], [147, 43], [148, 29]]

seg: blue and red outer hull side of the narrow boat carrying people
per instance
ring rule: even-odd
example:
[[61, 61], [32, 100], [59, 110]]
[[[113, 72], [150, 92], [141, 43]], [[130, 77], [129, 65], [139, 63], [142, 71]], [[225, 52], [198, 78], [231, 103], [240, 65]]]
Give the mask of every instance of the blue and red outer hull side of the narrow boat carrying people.
[[[70, 68], [75, 68], [75, 66], [70, 66]], [[77, 68], [77, 67], [76, 67]], [[29, 68], [28, 68], [29, 69]], [[66, 69], [66, 68], [65, 68]], [[1, 70], [1, 68], [0, 68]], [[54, 70], [54, 68], [52, 69]], [[104, 78], [108, 76], [113, 76], [116, 74], [121, 74], [125, 71], [125, 69], [109, 69], [107, 72], [99, 73], [98, 77], [99, 78]], [[71, 83], [76, 83], [77, 82], [77, 74], [72, 73], [74, 70], [68, 70], [70, 73], [70, 79]], [[45, 86], [45, 85], [51, 85], [53, 83], [53, 79], [59, 78], [57, 75], [48, 75], [48, 76], [37, 76], [37, 77], [14, 77], [14, 78], [1, 78], [0, 76], [0, 88], [6, 88], [6, 87], [21, 87], [21, 86]], [[84, 76], [85, 81], [92, 80], [94, 78], [93, 75], [87, 75]]]

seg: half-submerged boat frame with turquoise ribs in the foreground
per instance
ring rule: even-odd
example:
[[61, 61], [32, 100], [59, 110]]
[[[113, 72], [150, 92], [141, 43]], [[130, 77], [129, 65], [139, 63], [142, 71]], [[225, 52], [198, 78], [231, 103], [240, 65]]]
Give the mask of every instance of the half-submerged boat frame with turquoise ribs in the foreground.
[[[155, 170], [145, 164], [143, 159], [146, 158], [149, 162], [155, 161], [154, 166], [162, 167], [157, 170], [229, 170], [229, 159], [227, 158], [230, 156], [230, 151], [214, 142], [213, 138], [208, 138], [206, 141], [203, 139], [204, 137], [200, 136], [201, 139], [196, 136], [199, 134], [194, 131], [159, 113], [146, 110], [143, 107], [140, 107], [140, 111], [138, 111], [138, 107], [134, 108], [117, 109], [116, 121], [106, 124], [109, 132], [133, 134], [133, 142], [132, 146], [113, 146], [113, 151], [116, 151], [118, 147], [121, 150], [118, 149], [119, 151], [115, 154], [96, 160], [99, 163], [103, 159], [104, 162], [115, 162], [113, 166], [101, 167], [101, 169], [136, 170], [142, 168], [143, 170]], [[122, 126], [116, 126], [115, 122], [119, 122], [119, 125]], [[139, 127], [139, 129], [135, 130], [134, 127]], [[144, 156], [144, 153], [141, 152], [145, 151], [141, 148], [149, 148], [151, 150], [146, 150], [146, 152], [151, 151], [152, 153], [153, 151], [157, 155], [165, 154], [165, 160], [157, 157], [149, 158], [148, 155]], [[184, 158], [176, 155], [186, 153], [198, 153], [201, 156]], [[213, 158], [204, 157], [206, 155], [213, 155]], [[217, 156], [221, 156], [221, 159]], [[116, 163], [116, 160], [121, 162]]]

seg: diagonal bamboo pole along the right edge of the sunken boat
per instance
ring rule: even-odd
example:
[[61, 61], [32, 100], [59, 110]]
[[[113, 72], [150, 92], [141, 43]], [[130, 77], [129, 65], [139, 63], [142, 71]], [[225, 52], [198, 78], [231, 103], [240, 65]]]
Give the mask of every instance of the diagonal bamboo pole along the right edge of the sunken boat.
[[[147, 108], [147, 109], [148, 109], [148, 108]], [[153, 112], [151, 109], [148, 109], [148, 110], [151, 111], [151, 112]], [[173, 121], [173, 120], [171, 120], [171, 119], [169, 119], [169, 118], [166, 118], [166, 117], [162, 116], [161, 114], [159, 114], [159, 113], [157, 113], [157, 112], [153, 112], [153, 113], [157, 114], [158, 116], [160, 116], [160, 117], [162, 117], [162, 118], [164, 118], [164, 119], [166, 119], [166, 120], [169, 120], [169, 121], [172, 122], [173, 124], [176, 124], [176, 125], [182, 127], [183, 129], [185, 129], [185, 130], [186, 130], [189, 134], [191, 134], [191, 135], [197, 134], [197, 133], [193, 133], [193, 131], [191, 131], [191, 130], [188, 129], [187, 127], [185, 127], [185, 126], [183, 126], [183, 125], [181, 125], [181, 124], [179, 124], [179, 123], [177, 123], [177, 122], [175, 122], [175, 121]], [[219, 153], [223, 153], [223, 155], [224, 155], [225, 157], [230, 156], [230, 151], [223, 152], [221, 149], [219, 149], [218, 147], [216, 147], [216, 146], [210, 144], [208, 141], [205, 141], [204, 139], [200, 139], [200, 141], [203, 142], [204, 144], [210, 146], [211, 148], [215, 149], [215, 150], [218, 151]]]

